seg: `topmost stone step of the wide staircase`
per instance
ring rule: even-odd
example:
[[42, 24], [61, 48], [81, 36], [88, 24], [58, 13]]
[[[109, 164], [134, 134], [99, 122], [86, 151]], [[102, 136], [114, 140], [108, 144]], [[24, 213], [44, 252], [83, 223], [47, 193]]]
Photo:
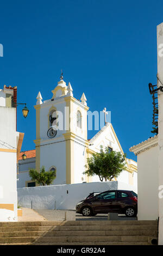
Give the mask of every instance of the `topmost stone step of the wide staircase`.
[[55, 226], [55, 225], [155, 225], [157, 221], [43, 221], [0, 222], [0, 227]]

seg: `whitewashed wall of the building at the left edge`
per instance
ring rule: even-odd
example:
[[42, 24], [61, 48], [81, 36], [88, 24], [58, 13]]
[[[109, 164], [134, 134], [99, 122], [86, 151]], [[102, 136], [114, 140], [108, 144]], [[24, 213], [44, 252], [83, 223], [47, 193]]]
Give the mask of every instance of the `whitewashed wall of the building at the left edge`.
[[[17, 148], [17, 138], [19, 133], [15, 131], [15, 127], [16, 109], [1, 106], [0, 148]], [[0, 204], [14, 204], [14, 211], [1, 209], [0, 221], [17, 220], [16, 160], [16, 152], [13, 153], [0, 151]]]

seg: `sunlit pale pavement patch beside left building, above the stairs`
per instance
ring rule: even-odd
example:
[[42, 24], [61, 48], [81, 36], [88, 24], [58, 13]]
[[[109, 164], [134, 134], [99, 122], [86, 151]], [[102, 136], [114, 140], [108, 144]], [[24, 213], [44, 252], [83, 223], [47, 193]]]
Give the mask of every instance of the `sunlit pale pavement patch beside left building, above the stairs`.
[[18, 221], [47, 221], [39, 212], [29, 208], [22, 208], [22, 217], [18, 217]]

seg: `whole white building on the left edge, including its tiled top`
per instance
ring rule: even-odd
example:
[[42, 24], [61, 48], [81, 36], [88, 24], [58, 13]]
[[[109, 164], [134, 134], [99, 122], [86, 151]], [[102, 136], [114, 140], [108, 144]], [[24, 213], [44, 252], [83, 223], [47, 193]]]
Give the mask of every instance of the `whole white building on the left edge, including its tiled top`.
[[17, 221], [17, 163], [24, 133], [16, 131], [16, 87], [0, 89], [0, 221]]

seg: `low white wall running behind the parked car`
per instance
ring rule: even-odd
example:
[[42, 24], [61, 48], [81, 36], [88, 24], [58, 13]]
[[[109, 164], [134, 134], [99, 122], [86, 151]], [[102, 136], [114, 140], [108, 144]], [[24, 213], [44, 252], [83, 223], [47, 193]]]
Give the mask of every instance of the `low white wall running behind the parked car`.
[[117, 189], [136, 192], [133, 186], [110, 181], [17, 188], [17, 196], [18, 204], [26, 208], [31, 207], [32, 201], [33, 209], [73, 210], [91, 192]]

